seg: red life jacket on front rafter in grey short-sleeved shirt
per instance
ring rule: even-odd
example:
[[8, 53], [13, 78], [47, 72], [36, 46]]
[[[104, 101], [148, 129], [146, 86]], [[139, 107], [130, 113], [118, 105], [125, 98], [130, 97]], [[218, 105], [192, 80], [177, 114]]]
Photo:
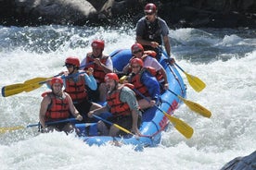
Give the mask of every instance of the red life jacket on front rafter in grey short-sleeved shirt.
[[109, 112], [113, 116], [125, 116], [131, 114], [131, 110], [128, 103], [123, 103], [120, 100], [120, 92], [124, 86], [125, 84], [122, 84], [116, 91], [113, 91], [111, 94], [108, 94], [107, 96], [107, 103], [110, 108]]

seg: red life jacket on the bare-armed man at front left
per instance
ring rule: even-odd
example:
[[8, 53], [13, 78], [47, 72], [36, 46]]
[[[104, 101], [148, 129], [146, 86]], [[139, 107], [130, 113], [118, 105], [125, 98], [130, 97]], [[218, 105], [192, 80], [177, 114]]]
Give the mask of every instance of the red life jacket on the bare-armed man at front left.
[[51, 103], [48, 105], [45, 113], [45, 121], [69, 118], [70, 104], [69, 99], [65, 94], [63, 94], [63, 98], [59, 98], [51, 91], [45, 95], [48, 95], [51, 98]]

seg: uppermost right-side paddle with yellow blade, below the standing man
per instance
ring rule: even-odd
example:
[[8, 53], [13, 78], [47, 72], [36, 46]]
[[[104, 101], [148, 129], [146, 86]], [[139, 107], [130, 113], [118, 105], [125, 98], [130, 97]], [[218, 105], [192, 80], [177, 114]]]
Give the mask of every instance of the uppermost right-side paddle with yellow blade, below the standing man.
[[[161, 48], [159, 49], [163, 55], [165, 55], [167, 58], [170, 58]], [[186, 79], [188, 80], [188, 83], [195, 91], [197, 92], [202, 91], [206, 87], [206, 84], [201, 79], [198, 79], [198, 77], [195, 77], [186, 73], [186, 71], [183, 68], [179, 67], [176, 62], [174, 63], [174, 65], [178, 67], [186, 75]]]

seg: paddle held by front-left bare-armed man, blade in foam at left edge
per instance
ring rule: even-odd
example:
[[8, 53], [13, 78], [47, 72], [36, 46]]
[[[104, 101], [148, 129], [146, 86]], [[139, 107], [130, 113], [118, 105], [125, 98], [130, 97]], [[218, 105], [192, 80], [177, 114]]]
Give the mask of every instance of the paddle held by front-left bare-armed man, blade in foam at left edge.
[[[54, 124], [70, 122], [70, 121], [74, 121], [74, 120], [76, 120], [76, 119], [75, 118], [68, 118], [68, 119], [58, 120], [58, 121], [54, 121], [54, 122], [46, 122], [46, 125], [54, 125]], [[27, 127], [23, 127], [23, 126], [6, 127], [6, 128], [4, 127], [4, 128], [0, 128], [0, 134], [6, 133], [7, 131], [13, 131], [13, 130], [19, 130], [19, 129], [23, 129], [23, 128], [31, 128], [31, 127], [37, 127], [37, 126], [40, 126], [40, 123], [31, 124], [31, 125], [28, 125]]]

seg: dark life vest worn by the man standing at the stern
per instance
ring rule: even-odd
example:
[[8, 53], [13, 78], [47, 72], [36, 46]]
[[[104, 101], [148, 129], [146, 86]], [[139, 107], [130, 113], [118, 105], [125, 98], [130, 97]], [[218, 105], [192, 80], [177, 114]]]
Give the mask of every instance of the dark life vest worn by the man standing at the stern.
[[[145, 18], [144, 22], [145, 22], [145, 28], [143, 31], [142, 38], [149, 42], [158, 42], [159, 44], [161, 44], [159, 18], [156, 18], [156, 20], [153, 23], [149, 22], [147, 20], [147, 18]], [[143, 47], [145, 50], [153, 50], [154, 49], [150, 45], [143, 45]]]

